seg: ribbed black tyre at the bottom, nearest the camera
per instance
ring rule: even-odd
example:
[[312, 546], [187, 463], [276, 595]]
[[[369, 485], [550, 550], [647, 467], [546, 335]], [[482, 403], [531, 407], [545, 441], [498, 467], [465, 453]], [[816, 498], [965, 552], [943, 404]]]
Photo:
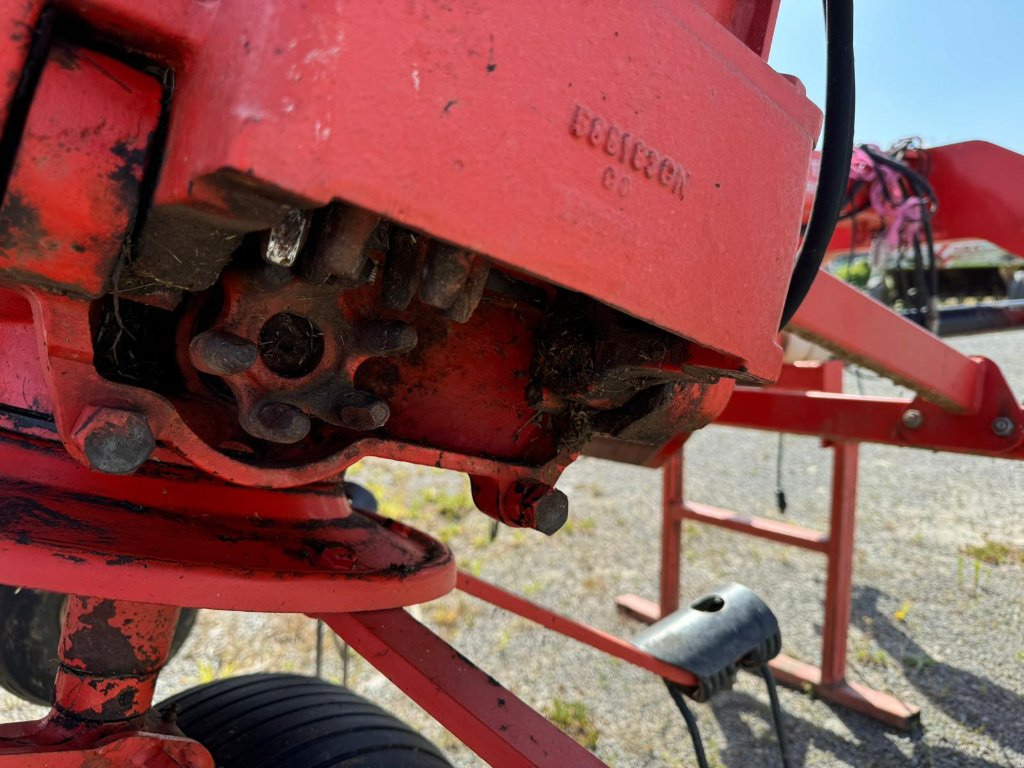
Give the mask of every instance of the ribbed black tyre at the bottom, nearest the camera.
[[451, 768], [427, 739], [347, 688], [247, 675], [172, 696], [178, 727], [217, 768]]

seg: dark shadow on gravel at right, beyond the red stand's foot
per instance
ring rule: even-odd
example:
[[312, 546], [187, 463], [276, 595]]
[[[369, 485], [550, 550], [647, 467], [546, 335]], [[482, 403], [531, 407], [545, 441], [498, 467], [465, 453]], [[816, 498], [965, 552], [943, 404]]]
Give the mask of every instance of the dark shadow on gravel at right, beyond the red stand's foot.
[[[854, 624], [869, 633], [896, 664], [903, 665], [907, 682], [925, 696], [925, 722], [928, 711], [937, 709], [968, 730], [984, 733], [1001, 746], [1024, 753], [1024, 697], [998, 683], [932, 658], [888, 612], [879, 608], [879, 599], [887, 597], [870, 587], [854, 589]], [[865, 626], [865, 616], [871, 618]], [[957, 628], [951, 627], [951, 632]], [[967, 631], [966, 629], [964, 631]], [[963, 763], [967, 765], [967, 763]], [[980, 764], [979, 764], [980, 765]]]

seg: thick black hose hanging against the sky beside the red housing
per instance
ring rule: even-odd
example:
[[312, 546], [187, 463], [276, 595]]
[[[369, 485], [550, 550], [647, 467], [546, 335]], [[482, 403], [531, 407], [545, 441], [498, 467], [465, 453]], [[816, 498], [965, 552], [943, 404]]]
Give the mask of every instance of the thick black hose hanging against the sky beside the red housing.
[[853, 67], [853, 0], [824, 0], [827, 39], [825, 118], [821, 139], [818, 188], [804, 243], [790, 281], [782, 307], [782, 329], [811, 290], [831, 241], [840, 211], [846, 200], [853, 156], [853, 120], [856, 78]]

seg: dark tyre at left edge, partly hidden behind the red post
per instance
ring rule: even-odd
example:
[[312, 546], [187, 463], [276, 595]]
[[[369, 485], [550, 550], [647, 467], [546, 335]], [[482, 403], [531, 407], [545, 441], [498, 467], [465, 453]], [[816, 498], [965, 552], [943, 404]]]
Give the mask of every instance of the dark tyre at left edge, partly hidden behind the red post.
[[[19, 698], [48, 705], [57, 672], [57, 645], [66, 596], [0, 586], [0, 686]], [[196, 611], [183, 608], [171, 654], [188, 637]]]

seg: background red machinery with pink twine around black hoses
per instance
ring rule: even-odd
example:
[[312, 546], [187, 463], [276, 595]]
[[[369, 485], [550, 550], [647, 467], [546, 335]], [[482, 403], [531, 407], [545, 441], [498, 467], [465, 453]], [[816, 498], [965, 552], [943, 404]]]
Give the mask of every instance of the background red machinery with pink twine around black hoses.
[[941, 336], [1020, 326], [1021, 178], [1024, 158], [985, 141], [858, 146], [826, 261]]

